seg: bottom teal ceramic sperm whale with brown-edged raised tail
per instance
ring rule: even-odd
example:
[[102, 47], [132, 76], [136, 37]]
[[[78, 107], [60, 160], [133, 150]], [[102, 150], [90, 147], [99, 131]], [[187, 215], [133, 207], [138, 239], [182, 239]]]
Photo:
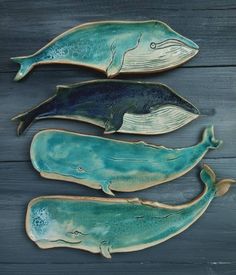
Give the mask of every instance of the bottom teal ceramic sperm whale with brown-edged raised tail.
[[216, 196], [235, 181], [216, 182], [205, 165], [204, 191], [191, 202], [166, 205], [154, 201], [95, 197], [46, 196], [27, 209], [26, 232], [40, 248], [70, 247], [101, 253], [131, 252], [162, 243], [186, 230]]

